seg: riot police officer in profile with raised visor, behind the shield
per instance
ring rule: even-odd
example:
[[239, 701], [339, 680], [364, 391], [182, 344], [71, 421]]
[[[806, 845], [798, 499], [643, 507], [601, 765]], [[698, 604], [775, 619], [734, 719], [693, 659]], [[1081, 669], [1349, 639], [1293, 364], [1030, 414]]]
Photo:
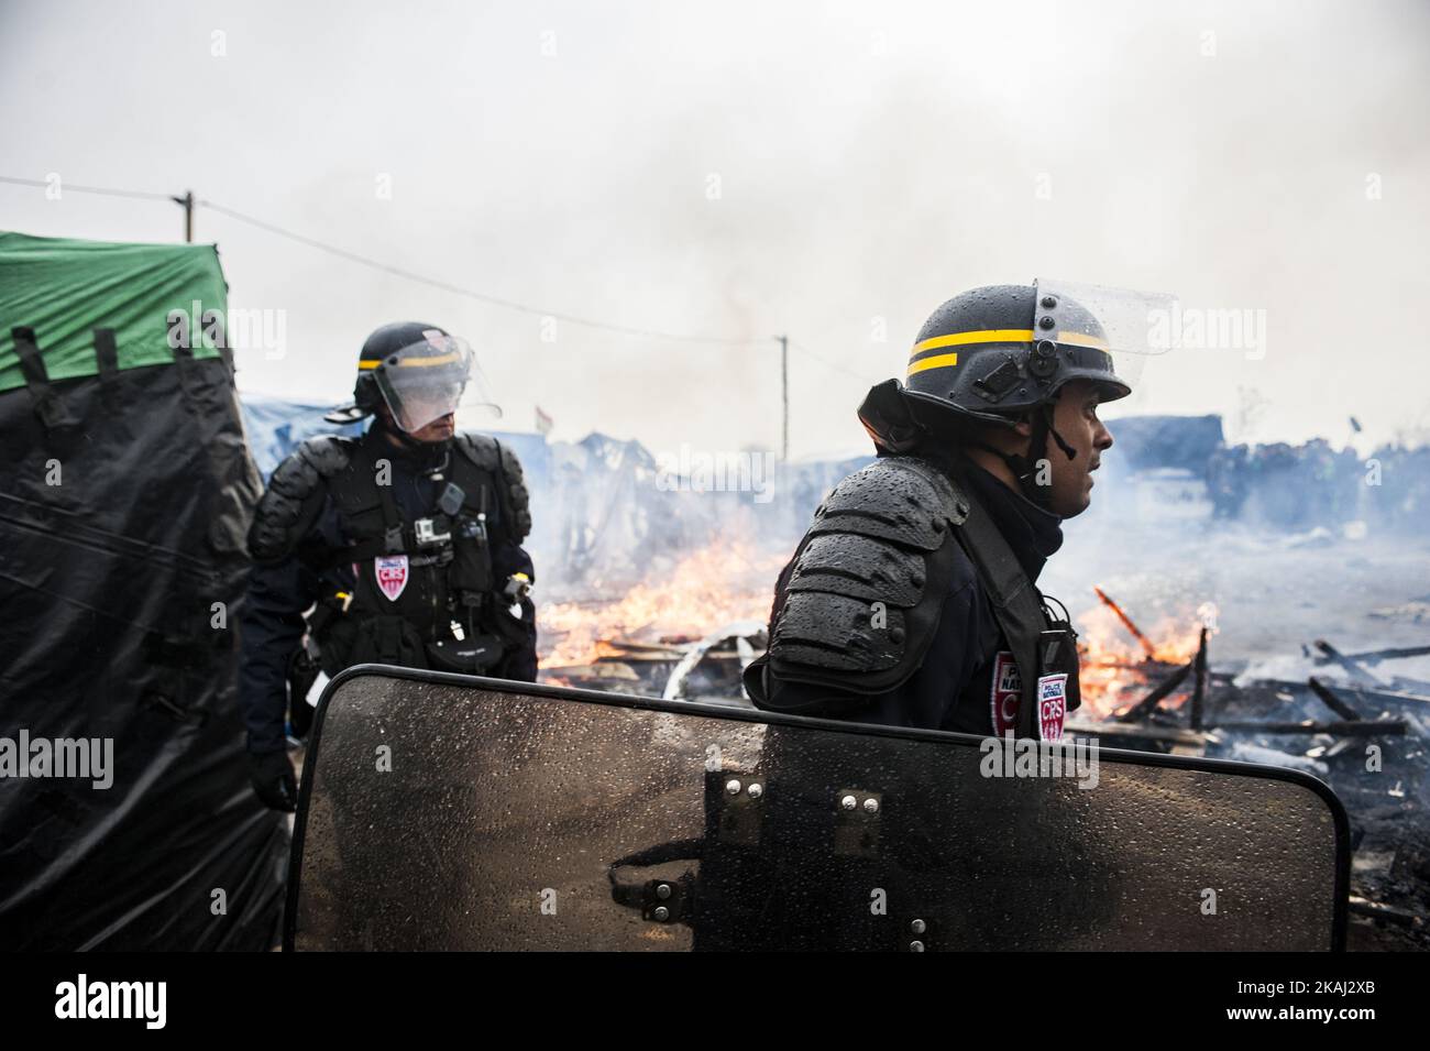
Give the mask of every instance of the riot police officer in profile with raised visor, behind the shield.
[[[905, 385], [859, 408], [878, 459], [815, 515], [745, 686], [769, 711], [1057, 739], [1078, 706], [1067, 611], [1037, 591], [1130, 393], [1108, 290], [972, 289], [918, 333]], [[1055, 602], [1055, 599], [1054, 599]]]

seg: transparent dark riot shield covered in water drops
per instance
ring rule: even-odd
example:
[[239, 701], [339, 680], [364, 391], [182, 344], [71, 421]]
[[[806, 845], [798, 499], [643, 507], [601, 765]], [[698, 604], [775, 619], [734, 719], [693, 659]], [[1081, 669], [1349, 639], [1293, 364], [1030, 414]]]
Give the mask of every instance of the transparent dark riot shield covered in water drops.
[[366, 665], [317, 711], [285, 944], [1338, 949], [1348, 871], [1294, 771]]

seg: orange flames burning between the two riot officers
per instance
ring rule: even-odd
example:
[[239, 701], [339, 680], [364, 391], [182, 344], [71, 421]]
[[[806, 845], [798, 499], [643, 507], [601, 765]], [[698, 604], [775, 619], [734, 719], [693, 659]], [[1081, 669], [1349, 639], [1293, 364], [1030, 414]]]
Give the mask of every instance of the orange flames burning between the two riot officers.
[[618, 652], [608, 639], [699, 639], [731, 621], [764, 621], [786, 559], [759, 552], [748, 541], [718, 541], [666, 572], [649, 573], [613, 602], [546, 603], [536, 622], [543, 638], [556, 638], [556, 646], [542, 666], [593, 663]]

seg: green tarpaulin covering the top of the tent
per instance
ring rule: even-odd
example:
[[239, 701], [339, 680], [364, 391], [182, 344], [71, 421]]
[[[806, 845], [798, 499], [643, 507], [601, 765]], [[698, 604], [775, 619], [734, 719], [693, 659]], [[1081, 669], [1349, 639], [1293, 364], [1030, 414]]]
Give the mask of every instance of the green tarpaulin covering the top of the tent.
[[[226, 312], [213, 245], [114, 245], [0, 233], [0, 390], [24, 386], [11, 330], [34, 329], [51, 380], [94, 376], [94, 329], [114, 330], [120, 369], [172, 365], [170, 312], [180, 310], [194, 357], [207, 310]], [[197, 307], [194, 306], [197, 300]]]

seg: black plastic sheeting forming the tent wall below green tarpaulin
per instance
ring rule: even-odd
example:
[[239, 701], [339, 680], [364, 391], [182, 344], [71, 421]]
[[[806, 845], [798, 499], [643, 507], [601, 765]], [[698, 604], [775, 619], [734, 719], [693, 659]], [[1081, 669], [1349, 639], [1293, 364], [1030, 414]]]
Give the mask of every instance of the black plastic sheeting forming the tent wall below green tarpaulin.
[[260, 489], [232, 372], [51, 390], [72, 426], [0, 395], [0, 749], [110, 739], [113, 784], [0, 776], [0, 948], [272, 948], [289, 834], [249, 788], [235, 689]]

